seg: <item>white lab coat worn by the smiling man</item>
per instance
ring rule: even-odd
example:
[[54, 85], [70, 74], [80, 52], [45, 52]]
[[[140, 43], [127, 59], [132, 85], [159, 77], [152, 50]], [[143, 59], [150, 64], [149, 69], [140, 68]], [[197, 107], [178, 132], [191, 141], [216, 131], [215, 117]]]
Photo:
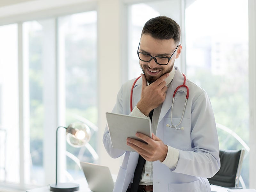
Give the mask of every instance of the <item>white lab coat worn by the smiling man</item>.
[[[182, 123], [176, 130], [166, 127], [171, 124], [172, 96], [177, 86], [183, 84], [184, 77], [180, 70], [176, 72], [160, 112], [156, 136], [166, 145], [179, 149], [179, 161], [175, 169], [169, 169], [160, 161], [153, 162], [154, 192], [210, 192], [210, 184], [206, 178], [212, 177], [220, 169], [219, 141], [216, 131], [212, 106], [206, 92], [187, 80], [189, 98]], [[134, 82], [126, 82], [117, 95], [116, 105], [112, 112], [130, 114], [130, 94]], [[133, 108], [140, 100], [141, 78], [133, 88]], [[174, 100], [172, 122], [178, 124], [182, 115], [186, 89], [179, 89]], [[138, 153], [112, 148], [108, 128], [106, 127], [103, 143], [108, 154], [117, 158], [125, 153], [119, 169], [114, 192], [125, 192], [133, 179], [138, 162]]]

